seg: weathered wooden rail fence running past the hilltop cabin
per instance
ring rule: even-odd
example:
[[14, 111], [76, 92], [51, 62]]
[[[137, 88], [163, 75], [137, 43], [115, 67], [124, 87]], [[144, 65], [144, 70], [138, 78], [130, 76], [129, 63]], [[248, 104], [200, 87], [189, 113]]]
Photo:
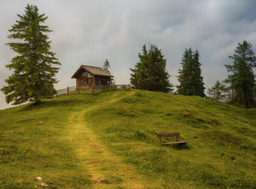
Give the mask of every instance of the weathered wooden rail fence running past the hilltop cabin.
[[87, 87], [76, 87], [76, 86], [68, 86], [67, 88], [59, 89], [57, 91], [56, 96], [60, 96], [63, 94], [69, 93], [91, 93], [97, 94], [103, 91], [114, 91], [114, 90], [129, 90], [132, 86], [130, 84], [127, 85], [106, 85], [106, 86], [87, 86]]

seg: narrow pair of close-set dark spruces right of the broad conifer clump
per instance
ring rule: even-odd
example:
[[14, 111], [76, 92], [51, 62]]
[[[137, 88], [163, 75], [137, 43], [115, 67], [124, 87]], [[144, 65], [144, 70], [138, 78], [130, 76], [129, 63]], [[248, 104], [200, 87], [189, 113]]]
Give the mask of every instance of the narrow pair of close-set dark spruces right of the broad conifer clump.
[[181, 59], [183, 69], [178, 69], [178, 81], [180, 82], [180, 85], [176, 86], [178, 94], [206, 97], [199, 57], [198, 50], [192, 52], [191, 48], [185, 49]]

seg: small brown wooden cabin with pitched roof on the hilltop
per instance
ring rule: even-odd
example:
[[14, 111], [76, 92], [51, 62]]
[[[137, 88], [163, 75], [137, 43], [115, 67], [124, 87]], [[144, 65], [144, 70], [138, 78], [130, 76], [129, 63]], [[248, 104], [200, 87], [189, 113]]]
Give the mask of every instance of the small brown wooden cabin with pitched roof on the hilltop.
[[71, 79], [76, 79], [77, 87], [86, 87], [110, 85], [111, 77], [113, 76], [100, 67], [81, 65]]

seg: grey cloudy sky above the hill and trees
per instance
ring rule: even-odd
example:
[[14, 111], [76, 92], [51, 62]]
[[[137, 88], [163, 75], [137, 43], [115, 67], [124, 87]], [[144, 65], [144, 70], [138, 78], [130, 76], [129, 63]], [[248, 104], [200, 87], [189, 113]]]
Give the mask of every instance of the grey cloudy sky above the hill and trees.
[[[6, 69], [16, 54], [6, 38], [27, 4], [46, 13], [52, 51], [62, 66], [56, 89], [75, 86], [71, 76], [81, 64], [102, 67], [110, 61], [117, 84], [129, 84], [144, 44], [157, 45], [166, 58], [170, 81], [178, 85], [185, 48], [198, 49], [206, 88], [227, 77], [223, 64], [232, 64], [238, 42], [247, 40], [256, 52], [255, 0], [0, 0], [0, 88], [12, 71]], [[17, 41], [18, 42], [18, 41]], [[11, 107], [0, 91], [0, 109]]]

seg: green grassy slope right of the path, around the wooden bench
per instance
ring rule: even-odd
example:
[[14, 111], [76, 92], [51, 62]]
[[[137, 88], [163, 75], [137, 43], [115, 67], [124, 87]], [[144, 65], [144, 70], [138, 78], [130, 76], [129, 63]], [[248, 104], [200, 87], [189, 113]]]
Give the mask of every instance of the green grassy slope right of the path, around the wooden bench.
[[[135, 91], [85, 120], [115, 154], [164, 188], [256, 188], [255, 115], [198, 96]], [[162, 147], [161, 132], [180, 132], [189, 142]]]

